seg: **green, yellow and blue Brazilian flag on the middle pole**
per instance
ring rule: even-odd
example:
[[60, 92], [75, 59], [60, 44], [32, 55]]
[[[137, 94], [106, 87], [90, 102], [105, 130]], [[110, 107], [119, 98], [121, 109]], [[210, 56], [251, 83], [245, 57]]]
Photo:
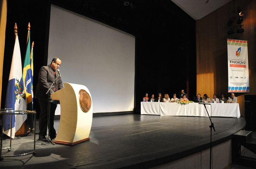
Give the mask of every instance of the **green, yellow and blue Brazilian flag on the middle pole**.
[[[30, 52], [30, 31], [28, 32], [28, 44], [23, 67], [23, 84], [26, 95], [27, 110], [33, 110], [33, 48]], [[28, 115], [28, 126], [33, 129], [33, 114]]]

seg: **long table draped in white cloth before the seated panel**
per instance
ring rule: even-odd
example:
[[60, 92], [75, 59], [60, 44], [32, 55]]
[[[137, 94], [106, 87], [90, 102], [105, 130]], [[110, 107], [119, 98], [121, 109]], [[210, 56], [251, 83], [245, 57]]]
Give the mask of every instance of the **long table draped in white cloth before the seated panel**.
[[[240, 117], [238, 103], [211, 103], [211, 105], [206, 105], [206, 108], [210, 116]], [[141, 102], [141, 114], [161, 116], [208, 116], [204, 106], [201, 104], [189, 103], [187, 105], [181, 105], [169, 102]]]

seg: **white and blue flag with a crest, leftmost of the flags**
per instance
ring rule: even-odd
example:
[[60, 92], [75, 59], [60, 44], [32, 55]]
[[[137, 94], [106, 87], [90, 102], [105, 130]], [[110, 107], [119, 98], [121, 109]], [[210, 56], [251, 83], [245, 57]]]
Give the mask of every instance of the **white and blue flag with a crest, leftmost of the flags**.
[[[25, 95], [22, 91], [22, 61], [19, 48], [19, 39], [17, 35], [13, 49], [11, 71], [6, 92], [6, 109], [11, 108], [12, 110], [26, 110], [26, 100], [24, 97]], [[26, 118], [27, 115], [4, 115], [3, 133], [14, 138], [15, 132], [19, 130]]]

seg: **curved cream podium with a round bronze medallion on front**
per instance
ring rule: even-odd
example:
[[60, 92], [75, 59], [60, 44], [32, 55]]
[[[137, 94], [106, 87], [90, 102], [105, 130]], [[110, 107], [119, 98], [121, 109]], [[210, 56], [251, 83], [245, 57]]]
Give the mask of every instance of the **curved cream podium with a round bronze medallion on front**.
[[60, 124], [56, 144], [73, 146], [89, 140], [93, 121], [93, 102], [87, 87], [64, 83], [64, 88], [51, 94], [60, 101]]

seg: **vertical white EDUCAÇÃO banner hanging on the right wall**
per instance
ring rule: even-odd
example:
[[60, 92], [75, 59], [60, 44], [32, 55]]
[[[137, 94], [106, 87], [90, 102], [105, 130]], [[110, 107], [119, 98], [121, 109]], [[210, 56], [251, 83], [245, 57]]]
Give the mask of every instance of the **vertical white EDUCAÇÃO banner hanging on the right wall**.
[[247, 41], [227, 39], [228, 92], [250, 92]]

